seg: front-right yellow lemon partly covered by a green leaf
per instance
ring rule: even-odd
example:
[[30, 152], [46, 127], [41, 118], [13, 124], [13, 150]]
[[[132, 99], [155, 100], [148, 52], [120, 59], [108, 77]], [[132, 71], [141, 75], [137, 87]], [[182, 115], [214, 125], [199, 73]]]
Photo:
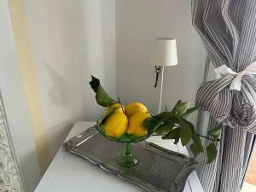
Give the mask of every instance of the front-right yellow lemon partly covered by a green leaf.
[[149, 113], [138, 112], [131, 116], [127, 128], [127, 133], [137, 137], [143, 137], [148, 134], [148, 129], [144, 127], [143, 121], [150, 117]]

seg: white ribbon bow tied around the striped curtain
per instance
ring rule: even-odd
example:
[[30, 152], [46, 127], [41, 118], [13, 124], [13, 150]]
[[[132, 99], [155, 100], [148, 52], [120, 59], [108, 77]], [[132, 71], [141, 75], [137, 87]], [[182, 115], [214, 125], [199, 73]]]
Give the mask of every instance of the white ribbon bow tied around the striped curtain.
[[240, 73], [234, 72], [230, 67], [226, 65], [222, 65], [221, 67], [215, 68], [214, 72], [217, 74], [217, 78], [221, 78], [222, 76], [232, 75], [236, 76], [230, 84], [230, 90], [241, 90], [241, 78], [244, 75], [255, 75], [256, 74], [256, 61], [248, 65], [244, 70]]

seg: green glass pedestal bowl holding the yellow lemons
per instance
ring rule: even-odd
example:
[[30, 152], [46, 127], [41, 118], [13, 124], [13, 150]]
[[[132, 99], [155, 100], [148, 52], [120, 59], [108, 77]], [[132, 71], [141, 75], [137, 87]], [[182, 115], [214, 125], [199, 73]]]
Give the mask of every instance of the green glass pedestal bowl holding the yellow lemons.
[[128, 133], [125, 133], [124, 135], [118, 138], [108, 137], [105, 134], [103, 125], [98, 125], [98, 124], [96, 125], [96, 130], [99, 131], [103, 137], [106, 137], [113, 142], [125, 144], [125, 149], [119, 152], [115, 158], [119, 166], [125, 166], [125, 167], [136, 166], [137, 163], [139, 162], [138, 156], [132, 152], [131, 143], [142, 142], [143, 140], [150, 137], [148, 135], [143, 137], [136, 137]]

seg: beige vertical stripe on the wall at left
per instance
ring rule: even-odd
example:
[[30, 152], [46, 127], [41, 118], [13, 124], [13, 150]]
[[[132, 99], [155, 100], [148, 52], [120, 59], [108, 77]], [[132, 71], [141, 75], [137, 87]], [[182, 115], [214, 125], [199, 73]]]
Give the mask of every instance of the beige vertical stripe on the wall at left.
[[32, 122], [32, 132], [38, 153], [38, 161], [41, 165], [41, 172], [45, 172], [49, 164], [49, 148], [38, 90], [37, 74], [33, 61], [30, 34], [26, 20], [25, 1], [9, 1], [9, 9], [18, 53], [20, 73], [23, 80], [27, 107]]

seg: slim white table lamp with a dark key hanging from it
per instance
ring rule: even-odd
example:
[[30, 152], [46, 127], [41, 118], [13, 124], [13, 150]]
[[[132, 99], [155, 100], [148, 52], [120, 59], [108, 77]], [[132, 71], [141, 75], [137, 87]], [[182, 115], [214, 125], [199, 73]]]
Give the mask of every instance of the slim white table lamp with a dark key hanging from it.
[[150, 56], [150, 64], [154, 65], [156, 79], [154, 87], [157, 87], [159, 74], [161, 73], [159, 113], [161, 112], [162, 90], [164, 80], [164, 67], [177, 65], [177, 46], [175, 38], [156, 38], [154, 51]]

